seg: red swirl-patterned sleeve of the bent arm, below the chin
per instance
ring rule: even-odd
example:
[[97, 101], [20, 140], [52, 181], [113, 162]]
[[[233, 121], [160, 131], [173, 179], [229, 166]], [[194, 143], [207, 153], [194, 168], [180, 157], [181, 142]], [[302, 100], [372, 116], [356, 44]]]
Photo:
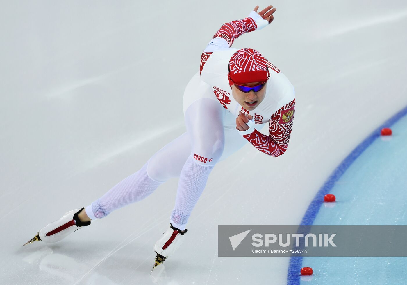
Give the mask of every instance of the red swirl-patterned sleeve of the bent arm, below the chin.
[[269, 135], [254, 130], [253, 133], [243, 135], [243, 137], [261, 152], [278, 157], [287, 150], [293, 127], [294, 112], [295, 99], [271, 115]]

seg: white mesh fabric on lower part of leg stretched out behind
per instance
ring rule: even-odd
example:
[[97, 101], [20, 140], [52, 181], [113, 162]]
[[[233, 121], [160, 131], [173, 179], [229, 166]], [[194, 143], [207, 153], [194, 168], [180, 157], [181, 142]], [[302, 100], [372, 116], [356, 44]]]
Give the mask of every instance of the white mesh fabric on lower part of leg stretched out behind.
[[148, 162], [138, 172], [123, 179], [94, 201], [91, 206], [94, 217], [104, 218], [110, 212], [140, 201], [153, 193], [162, 182], [154, 181], [148, 176], [147, 165]]

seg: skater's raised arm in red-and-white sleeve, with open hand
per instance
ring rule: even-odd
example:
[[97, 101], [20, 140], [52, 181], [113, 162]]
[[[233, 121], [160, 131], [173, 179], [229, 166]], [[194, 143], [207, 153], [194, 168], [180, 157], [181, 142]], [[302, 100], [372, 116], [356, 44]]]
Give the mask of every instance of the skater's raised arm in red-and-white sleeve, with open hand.
[[273, 6], [270, 5], [260, 12], [257, 12], [257, 10], [258, 6], [254, 7], [249, 16], [243, 20], [232, 21], [221, 26], [201, 55], [201, 71], [212, 52], [221, 48], [230, 48], [237, 37], [244, 33], [260, 30], [274, 20], [272, 14], [276, 11], [276, 8], [273, 8]]

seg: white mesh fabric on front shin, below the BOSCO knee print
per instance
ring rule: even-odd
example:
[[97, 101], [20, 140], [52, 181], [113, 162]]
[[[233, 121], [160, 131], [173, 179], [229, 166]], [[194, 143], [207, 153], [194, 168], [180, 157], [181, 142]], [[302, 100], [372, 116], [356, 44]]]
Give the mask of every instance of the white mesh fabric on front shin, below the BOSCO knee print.
[[171, 213], [171, 224], [180, 230], [185, 230], [188, 218], [199, 197], [204, 191], [206, 181], [214, 165], [203, 166], [188, 157], [179, 176], [177, 198]]

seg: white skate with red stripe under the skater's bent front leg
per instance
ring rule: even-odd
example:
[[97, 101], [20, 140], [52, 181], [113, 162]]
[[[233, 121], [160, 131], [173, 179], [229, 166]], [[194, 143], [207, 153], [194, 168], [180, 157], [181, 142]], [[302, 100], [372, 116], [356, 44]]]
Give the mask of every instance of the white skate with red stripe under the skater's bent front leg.
[[184, 234], [188, 230], [181, 231], [179, 228], [173, 227], [170, 223], [170, 227], [162, 234], [161, 238], [155, 243], [154, 251], [157, 253], [155, 257], [154, 268], [165, 261], [168, 256], [172, 255], [177, 248], [184, 241]]

